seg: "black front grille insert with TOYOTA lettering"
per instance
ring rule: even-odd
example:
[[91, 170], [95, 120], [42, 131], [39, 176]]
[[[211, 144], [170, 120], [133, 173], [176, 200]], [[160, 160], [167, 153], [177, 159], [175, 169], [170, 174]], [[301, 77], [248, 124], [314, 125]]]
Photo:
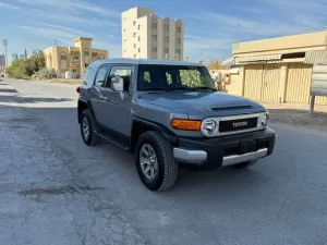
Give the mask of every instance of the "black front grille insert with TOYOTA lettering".
[[255, 128], [257, 126], [257, 118], [238, 119], [219, 122], [219, 132], [235, 132]]

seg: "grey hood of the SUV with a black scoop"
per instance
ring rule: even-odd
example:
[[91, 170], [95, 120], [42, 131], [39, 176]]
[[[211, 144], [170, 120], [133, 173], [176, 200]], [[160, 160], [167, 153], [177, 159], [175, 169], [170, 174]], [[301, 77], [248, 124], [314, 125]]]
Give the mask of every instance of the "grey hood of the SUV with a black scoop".
[[144, 93], [142, 99], [153, 105], [183, 111], [218, 112], [244, 109], [264, 109], [243, 97], [211, 91]]

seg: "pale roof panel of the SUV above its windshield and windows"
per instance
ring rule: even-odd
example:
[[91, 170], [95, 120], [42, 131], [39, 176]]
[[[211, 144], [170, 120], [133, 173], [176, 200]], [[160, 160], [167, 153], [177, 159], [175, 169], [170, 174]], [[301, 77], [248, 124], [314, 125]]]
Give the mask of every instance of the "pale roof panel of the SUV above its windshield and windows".
[[159, 60], [159, 59], [128, 59], [128, 58], [119, 58], [119, 59], [101, 59], [98, 60], [96, 62], [94, 62], [93, 64], [110, 64], [110, 63], [114, 63], [114, 64], [166, 64], [166, 65], [195, 65], [195, 66], [204, 66], [201, 63], [191, 63], [191, 62], [186, 62], [186, 61], [175, 61], [175, 60]]

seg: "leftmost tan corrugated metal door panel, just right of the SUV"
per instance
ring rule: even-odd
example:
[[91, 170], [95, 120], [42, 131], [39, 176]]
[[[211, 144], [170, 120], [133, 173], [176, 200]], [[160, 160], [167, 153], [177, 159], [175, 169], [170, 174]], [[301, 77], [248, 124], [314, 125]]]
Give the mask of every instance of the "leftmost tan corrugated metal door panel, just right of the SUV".
[[244, 97], [259, 100], [263, 82], [263, 65], [245, 65]]

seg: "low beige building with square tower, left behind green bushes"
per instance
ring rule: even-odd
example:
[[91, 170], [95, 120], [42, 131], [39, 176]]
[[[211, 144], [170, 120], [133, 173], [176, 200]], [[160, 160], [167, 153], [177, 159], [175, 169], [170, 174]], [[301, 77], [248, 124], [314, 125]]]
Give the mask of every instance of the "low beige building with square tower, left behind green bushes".
[[109, 51], [92, 47], [92, 38], [78, 37], [74, 39], [74, 47], [51, 46], [44, 50], [46, 66], [55, 69], [58, 77], [64, 78], [70, 71], [72, 78], [81, 77], [92, 62], [108, 59]]

